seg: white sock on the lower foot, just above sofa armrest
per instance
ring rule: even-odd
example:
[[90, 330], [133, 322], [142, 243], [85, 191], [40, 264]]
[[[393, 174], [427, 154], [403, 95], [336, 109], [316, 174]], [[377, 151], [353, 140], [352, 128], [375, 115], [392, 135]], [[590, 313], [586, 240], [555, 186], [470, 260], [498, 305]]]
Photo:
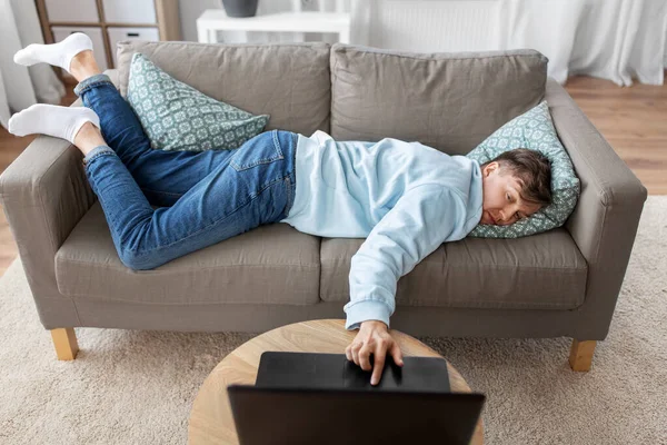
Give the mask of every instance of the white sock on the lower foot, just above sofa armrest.
[[49, 135], [74, 144], [74, 136], [86, 122], [100, 128], [100, 118], [90, 108], [37, 103], [9, 119], [9, 132], [16, 136]]

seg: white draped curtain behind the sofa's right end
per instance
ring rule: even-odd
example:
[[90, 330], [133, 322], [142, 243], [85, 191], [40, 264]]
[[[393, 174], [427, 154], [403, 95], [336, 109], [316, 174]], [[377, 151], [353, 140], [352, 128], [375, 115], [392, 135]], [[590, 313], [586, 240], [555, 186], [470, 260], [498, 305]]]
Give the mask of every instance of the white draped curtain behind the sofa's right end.
[[500, 48], [535, 48], [549, 76], [589, 75], [619, 86], [663, 85], [665, 0], [501, 0]]

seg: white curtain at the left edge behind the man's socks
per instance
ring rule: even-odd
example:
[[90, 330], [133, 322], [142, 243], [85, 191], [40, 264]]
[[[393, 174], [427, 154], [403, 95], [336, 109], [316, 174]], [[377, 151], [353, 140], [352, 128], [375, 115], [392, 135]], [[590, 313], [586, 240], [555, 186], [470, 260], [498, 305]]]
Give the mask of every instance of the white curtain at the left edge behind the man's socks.
[[0, 125], [12, 112], [33, 103], [60, 103], [64, 87], [50, 66], [22, 67], [13, 55], [30, 43], [43, 43], [33, 1], [0, 0]]

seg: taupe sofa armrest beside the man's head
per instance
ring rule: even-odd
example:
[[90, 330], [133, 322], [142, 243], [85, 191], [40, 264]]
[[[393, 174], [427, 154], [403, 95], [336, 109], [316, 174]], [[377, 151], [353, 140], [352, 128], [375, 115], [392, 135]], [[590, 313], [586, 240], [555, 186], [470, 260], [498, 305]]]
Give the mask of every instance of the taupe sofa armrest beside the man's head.
[[565, 227], [588, 263], [586, 300], [590, 338], [604, 339], [633, 250], [647, 190], [567, 91], [552, 78], [546, 100], [558, 137], [581, 181]]

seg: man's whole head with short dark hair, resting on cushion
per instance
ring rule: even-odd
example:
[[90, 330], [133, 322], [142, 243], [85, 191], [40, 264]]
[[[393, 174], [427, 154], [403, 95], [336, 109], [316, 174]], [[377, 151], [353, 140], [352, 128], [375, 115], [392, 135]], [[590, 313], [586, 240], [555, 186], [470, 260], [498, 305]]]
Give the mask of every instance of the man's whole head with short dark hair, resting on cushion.
[[551, 204], [551, 164], [539, 151], [505, 151], [480, 167], [480, 224], [507, 226]]

